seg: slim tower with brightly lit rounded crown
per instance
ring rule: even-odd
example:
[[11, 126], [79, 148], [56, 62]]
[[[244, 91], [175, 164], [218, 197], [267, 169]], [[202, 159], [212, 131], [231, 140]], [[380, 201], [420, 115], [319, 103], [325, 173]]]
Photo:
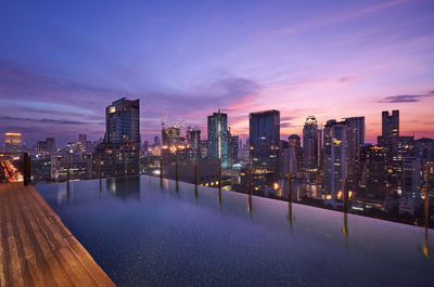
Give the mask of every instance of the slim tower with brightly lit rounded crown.
[[308, 116], [303, 128], [303, 166], [307, 170], [318, 169], [321, 161], [321, 129], [315, 116]]

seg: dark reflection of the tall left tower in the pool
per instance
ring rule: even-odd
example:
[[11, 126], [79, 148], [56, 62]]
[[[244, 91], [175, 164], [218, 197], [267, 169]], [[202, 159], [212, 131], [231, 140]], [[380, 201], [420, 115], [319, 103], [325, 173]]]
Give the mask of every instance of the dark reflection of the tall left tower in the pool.
[[113, 178], [106, 179], [106, 190], [122, 199], [140, 199], [140, 178]]

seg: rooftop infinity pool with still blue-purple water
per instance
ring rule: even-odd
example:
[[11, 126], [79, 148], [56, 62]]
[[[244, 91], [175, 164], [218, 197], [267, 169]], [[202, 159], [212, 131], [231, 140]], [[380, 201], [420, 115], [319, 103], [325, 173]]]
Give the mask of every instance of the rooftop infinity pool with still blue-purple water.
[[433, 286], [434, 232], [129, 177], [36, 186], [117, 286]]

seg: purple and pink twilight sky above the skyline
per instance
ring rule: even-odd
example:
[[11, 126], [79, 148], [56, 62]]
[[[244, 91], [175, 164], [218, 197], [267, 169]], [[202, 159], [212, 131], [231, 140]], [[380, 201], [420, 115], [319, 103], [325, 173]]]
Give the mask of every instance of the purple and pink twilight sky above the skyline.
[[[278, 109], [281, 138], [306, 117], [400, 110], [403, 135], [434, 138], [434, 1], [1, 1], [0, 133], [27, 145], [104, 134], [105, 106], [141, 102], [143, 140], [182, 120], [206, 138], [220, 107]], [[3, 139], [0, 138], [0, 142]]]

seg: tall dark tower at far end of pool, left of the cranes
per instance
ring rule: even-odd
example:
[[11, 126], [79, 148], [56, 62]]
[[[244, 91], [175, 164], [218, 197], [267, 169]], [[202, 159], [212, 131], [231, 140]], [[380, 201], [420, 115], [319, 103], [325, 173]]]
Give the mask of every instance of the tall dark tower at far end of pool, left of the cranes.
[[140, 172], [140, 102], [122, 97], [105, 108], [105, 135], [93, 152], [95, 175]]

